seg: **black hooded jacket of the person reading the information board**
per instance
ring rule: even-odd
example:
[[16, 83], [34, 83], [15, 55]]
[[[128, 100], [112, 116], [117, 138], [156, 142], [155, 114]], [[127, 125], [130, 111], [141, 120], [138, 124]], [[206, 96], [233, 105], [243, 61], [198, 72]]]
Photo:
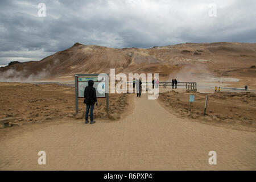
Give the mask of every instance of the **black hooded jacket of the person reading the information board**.
[[84, 104], [94, 105], [97, 102], [96, 89], [93, 87], [94, 81], [89, 80], [88, 86], [84, 89]]

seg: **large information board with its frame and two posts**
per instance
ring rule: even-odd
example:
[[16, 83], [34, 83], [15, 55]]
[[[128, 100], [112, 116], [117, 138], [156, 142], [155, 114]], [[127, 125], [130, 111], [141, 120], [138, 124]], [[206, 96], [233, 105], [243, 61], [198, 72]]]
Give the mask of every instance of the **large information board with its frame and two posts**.
[[75, 101], [76, 114], [79, 112], [79, 98], [84, 98], [84, 89], [88, 81], [93, 80], [97, 98], [106, 98], [106, 115], [109, 115], [109, 75], [108, 74], [76, 74], [75, 75]]

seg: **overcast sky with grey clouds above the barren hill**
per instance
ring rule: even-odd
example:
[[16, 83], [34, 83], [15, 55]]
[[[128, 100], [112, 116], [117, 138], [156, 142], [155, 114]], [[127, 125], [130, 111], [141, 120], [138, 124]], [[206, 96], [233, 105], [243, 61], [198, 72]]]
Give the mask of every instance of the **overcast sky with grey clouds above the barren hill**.
[[1, 0], [0, 65], [40, 60], [76, 42], [114, 48], [255, 43], [255, 10], [255, 0]]

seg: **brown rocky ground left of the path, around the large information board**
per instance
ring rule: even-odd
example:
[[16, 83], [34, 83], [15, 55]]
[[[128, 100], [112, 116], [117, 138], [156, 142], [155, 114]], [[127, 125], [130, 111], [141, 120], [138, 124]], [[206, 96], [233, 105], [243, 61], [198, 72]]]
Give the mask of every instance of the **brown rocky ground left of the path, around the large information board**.
[[[75, 88], [61, 85], [0, 83], [0, 121], [11, 125], [40, 123], [58, 118], [84, 119], [85, 105], [79, 99], [79, 114], [75, 115]], [[109, 117], [106, 99], [98, 98], [94, 118], [117, 120], [129, 106], [127, 94], [109, 94]]]

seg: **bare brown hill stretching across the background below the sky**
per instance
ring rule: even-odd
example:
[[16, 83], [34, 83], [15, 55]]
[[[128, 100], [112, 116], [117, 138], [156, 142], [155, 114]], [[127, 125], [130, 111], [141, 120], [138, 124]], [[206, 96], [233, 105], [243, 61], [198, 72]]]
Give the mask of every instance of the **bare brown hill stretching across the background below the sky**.
[[188, 65], [205, 68], [199, 72], [207, 70], [216, 75], [256, 77], [255, 64], [255, 43], [186, 43], [148, 49], [75, 43], [40, 61], [1, 67], [0, 81], [73, 80], [75, 73], [110, 73], [110, 68], [115, 68], [116, 73], [162, 73], [168, 76]]

